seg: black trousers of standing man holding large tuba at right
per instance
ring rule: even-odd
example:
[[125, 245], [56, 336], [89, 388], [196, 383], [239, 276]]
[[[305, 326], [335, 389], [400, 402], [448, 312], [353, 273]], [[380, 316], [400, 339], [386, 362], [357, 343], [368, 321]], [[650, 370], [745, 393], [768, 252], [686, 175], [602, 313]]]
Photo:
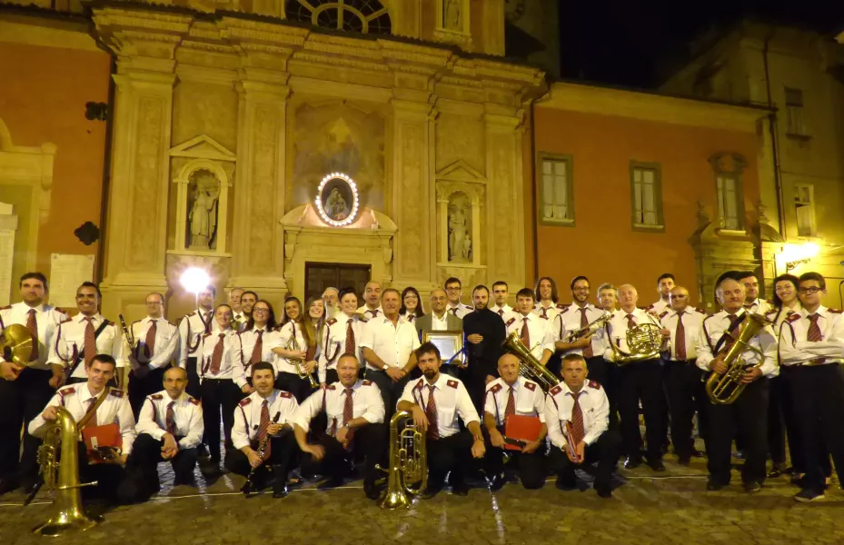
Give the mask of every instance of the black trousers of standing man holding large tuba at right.
[[769, 380], [760, 377], [750, 382], [734, 403], [716, 405], [710, 402], [710, 429], [706, 438], [710, 481], [719, 484], [730, 483], [730, 451], [733, 439], [739, 435], [744, 450], [741, 481], [765, 481], [768, 395]]

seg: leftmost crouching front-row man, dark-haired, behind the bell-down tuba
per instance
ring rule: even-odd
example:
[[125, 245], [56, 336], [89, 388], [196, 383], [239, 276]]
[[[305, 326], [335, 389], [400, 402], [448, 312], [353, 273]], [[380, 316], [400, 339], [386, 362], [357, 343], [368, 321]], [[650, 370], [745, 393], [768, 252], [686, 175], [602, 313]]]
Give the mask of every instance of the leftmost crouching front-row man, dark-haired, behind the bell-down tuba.
[[43, 438], [45, 432], [55, 425], [57, 407], [70, 411], [80, 434], [117, 424], [120, 445], [117, 450], [109, 451], [107, 456], [100, 451], [89, 452], [85, 443], [80, 441], [79, 481], [97, 483], [96, 486], [82, 488], [85, 497], [94, 496], [110, 504], [127, 504], [138, 497], [135, 483], [124, 471], [135, 438], [134, 417], [124, 392], [106, 386], [114, 379], [116, 369], [117, 363], [112, 356], [96, 354], [91, 365], [85, 369], [88, 381], [56, 391], [45, 410], [29, 422], [28, 431], [35, 437]]

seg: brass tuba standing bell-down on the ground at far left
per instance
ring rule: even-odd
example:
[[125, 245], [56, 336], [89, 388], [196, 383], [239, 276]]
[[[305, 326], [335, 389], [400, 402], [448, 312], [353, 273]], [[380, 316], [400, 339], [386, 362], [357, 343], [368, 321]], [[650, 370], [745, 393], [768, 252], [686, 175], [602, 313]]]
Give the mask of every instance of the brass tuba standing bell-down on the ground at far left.
[[[79, 484], [78, 431], [74, 416], [64, 407], [55, 408], [55, 424], [45, 431], [44, 443], [38, 447], [38, 462], [45, 485], [53, 490], [54, 514], [36, 526], [33, 533], [57, 536], [67, 530], [88, 530], [98, 520], [89, 519], [82, 510], [79, 488], [96, 482]], [[61, 449], [61, 451], [59, 451]], [[56, 454], [61, 452], [61, 459]]]

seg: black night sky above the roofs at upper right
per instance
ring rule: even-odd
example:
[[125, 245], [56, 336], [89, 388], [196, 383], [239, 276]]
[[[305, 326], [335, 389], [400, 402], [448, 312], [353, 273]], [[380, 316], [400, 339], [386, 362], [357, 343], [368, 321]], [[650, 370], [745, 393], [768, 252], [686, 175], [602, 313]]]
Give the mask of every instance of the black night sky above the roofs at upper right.
[[752, 16], [829, 35], [844, 30], [842, 0], [561, 0], [564, 79], [654, 87], [660, 66], [688, 58], [690, 39]]

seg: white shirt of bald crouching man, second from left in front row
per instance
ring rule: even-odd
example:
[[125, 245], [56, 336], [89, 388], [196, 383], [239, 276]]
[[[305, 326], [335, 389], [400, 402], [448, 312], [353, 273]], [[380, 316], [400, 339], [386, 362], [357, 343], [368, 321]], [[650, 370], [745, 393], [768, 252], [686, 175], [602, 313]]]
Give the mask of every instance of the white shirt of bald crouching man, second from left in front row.
[[[179, 440], [180, 449], [194, 449], [203, 440], [203, 407], [199, 400], [194, 399], [184, 391], [177, 399], [170, 397], [166, 390], [146, 396], [141, 413], [138, 415], [138, 425], [135, 429], [138, 435], [146, 433], [155, 441], [161, 441], [167, 432], [167, 406], [173, 403], [173, 421], [175, 434]], [[176, 439], [174, 437], [174, 439]]]

